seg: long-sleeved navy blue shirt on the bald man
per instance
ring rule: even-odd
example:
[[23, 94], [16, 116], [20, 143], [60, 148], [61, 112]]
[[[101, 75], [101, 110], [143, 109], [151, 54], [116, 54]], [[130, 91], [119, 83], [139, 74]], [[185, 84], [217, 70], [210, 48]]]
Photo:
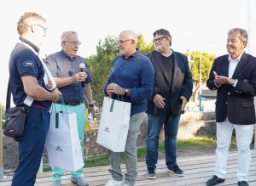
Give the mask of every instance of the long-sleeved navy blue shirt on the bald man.
[[120, 87], [130, 88], [131, 96], [118, 96], [113, 94], [113, 99], [131, 103], [131, 115], [146, 110], [146, 99], [152, 96], [154, 89], [154, 69], [150, 59], [140, 54], [139, 50], [128, 59], [123, 55], [113, 59], [112, 69], [104, 91], [110, 83], [117, 83]]

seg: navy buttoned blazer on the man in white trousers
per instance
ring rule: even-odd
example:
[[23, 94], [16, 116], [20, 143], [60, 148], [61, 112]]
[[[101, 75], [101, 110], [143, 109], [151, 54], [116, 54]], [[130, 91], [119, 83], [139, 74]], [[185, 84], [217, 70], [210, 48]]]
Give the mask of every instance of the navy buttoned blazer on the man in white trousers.
[[212, 71], [218, 76], [229, 76], [229, 54], [218, 57], [212, 64], [212, 70], [207, 80], [210, 90], [217, 90], [216, 121], [225, 121], [228, 117], [233, 124], [254, 124], [255, 109], [254, 96], [256, 95], [256, 59], [250, 54], [242, 54], [236, 66], [232, 79], [237, 79], [236, 87], [215, 84]]

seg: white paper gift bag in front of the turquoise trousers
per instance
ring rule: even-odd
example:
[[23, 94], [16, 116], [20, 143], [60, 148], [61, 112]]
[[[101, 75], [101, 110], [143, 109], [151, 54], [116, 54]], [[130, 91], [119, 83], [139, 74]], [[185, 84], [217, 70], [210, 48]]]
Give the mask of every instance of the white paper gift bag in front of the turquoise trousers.
[[75, 112], [51, 111], [46, 147], [50, 166], [70, 171], [84, 166]]

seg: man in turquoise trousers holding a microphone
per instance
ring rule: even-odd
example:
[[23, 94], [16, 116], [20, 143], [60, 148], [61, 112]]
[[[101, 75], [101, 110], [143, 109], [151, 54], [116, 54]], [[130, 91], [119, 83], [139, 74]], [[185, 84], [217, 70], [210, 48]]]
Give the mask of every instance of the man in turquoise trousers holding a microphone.
[[[55, 78], [57, 87], [62, 93], [62, 97], [68, 111], [73, 111], [77, 115], [79, 139], [84, 157], [84, 100], [88, 102], [88, 113], [95, 115], [94, 104], [92, 102], [92, 91], [90, 82], [92, 77], [90, 69], [84, 58], [77, 55], [79, 50], [78, 33], [76, 31], [64, 31], [61, 35], [62, 50], [55, 54], [50, 54], [45, 61], [49, 71]], [[61, 110], [61, 102], [55, 104], [56, 110]], [[61, 176], [64, 170], [52, 166], [53, 186], [61, 185]], [[76, 172], [71, 172], [71, 182], [80, 186], [89, 185], [82, 178], [83, 167]]]

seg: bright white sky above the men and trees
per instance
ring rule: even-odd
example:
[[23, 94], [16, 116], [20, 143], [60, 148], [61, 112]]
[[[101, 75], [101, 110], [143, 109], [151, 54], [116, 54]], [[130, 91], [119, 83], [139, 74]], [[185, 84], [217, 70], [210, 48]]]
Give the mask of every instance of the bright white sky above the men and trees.
[[[248, 6], [249, 4], [249, 6]], [[61, 33], [79, 33], [78, 54], [96, 54], [96, 45], [105, 37], [133, 30], [147, 42], [153, 32], [164, 28], [172, 35], [172, 49], [178, 52], [202, 50], [210, 54], [226, 53], [227, 31], [244, 28], [249, 34], [247, 53], [256, 56], [256, 2], [253, 0], [8, 0], [0, 11], [0, 97], [5, 103], [9, 79], [9, 55], [18, 41], [16, 30], [20, 16], [35, 12], [47, 20], [47, 34], [41, 55], [61, 50]], [[248, 12], [250, 14], [248, 14]]]

